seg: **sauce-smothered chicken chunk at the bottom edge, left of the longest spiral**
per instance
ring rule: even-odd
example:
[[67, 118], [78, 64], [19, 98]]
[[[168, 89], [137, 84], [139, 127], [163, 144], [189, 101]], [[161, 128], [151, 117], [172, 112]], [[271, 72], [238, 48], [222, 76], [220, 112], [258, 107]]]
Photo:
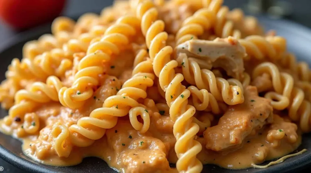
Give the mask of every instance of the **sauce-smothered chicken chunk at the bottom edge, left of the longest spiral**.
[[149, 132], [140, 134], [131, 123], [118, 120], [118, 124], [107, 129], [109, 147], [115, 156], [113, 164], [118, 164], [129, 173], [164, 172], [169, 170], [165, 144], [151, 137]]

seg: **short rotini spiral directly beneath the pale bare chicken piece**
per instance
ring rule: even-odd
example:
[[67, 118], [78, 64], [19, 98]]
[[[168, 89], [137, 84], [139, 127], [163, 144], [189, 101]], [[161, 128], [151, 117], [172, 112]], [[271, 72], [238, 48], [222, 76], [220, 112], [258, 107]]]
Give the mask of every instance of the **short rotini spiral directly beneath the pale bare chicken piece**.
[[198, 89], [207, 89], [217, 101], [225, 102], [228, 105], [236, 105], [244, 102], [243, 85], [236, 79], [237, 85], [232, 86], [224, 78], [216, 77], [214, 73], [207, 69], [201, 69], [199, 64], [187, 56], [177, 58], [182, 64], [183, 76], [185, 80]]

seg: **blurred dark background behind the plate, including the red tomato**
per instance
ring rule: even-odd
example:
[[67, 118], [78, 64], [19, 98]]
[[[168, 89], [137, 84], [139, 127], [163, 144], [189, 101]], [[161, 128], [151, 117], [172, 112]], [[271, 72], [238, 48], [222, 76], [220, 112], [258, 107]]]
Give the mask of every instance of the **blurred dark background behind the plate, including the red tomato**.
[[[287, 19], [311, 28], [311, 0], [224, 1], [230, 9], [242, 8], [246, 14]], [[59, 13], [77, 19], [86, 12], [100, 13], [112, 3], [113, 0], [0, 0], [0, 48], [13, 37], [22, 37], [23, 32], [49, 23]], [[2, 172], [26, 173], [1, 158], [0, 166], [4, 168]]]

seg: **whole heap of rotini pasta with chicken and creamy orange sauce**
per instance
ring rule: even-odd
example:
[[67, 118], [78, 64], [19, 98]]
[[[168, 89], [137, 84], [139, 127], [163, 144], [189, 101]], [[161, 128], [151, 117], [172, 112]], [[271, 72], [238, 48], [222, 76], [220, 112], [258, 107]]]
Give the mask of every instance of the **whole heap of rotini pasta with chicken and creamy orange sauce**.
[[95, 156], [120, 172], [264, 168], [303, 153], [286, 155], [311, 131], [309, 65], [223, 2], [115, 1], [55, 19], [8, 67], [0, 131], [41, 163]]

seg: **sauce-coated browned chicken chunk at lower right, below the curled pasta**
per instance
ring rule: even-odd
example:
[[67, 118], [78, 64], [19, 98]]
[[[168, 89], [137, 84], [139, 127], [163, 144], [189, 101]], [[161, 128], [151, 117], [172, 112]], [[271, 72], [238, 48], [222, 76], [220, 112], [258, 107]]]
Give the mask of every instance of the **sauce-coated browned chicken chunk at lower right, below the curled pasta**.
[[204, 132], [206, 148], [220, 151], [241, 144], [253, 131], [272, 123], [272, 114], [270, 101], [259, 97], [256, 87], [248, 86], [244, 103], [230, 106], [219, 119], [218, 125]]

